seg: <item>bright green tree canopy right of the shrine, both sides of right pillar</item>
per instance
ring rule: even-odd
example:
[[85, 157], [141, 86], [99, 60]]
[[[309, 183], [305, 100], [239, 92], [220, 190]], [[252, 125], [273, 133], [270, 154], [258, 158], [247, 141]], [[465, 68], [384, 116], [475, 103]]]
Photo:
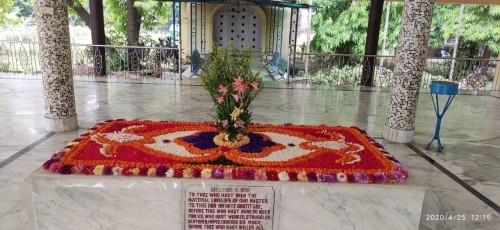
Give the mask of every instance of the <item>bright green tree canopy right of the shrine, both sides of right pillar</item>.
[[[362, 54], [368, 28], [368, 1], [331, 1], [314, 2], [315, 15], [312, 27], [316, 33], [311, 47], [315, 52], [335, 52]], [[387, 3], [384, 5], [384, 14]], [[393, 51], [397, 45], [399, 24], [403, 3], [391, 3], [387, 50]], [[436, 4], [432, 19], [429, 45], [443, 47], [444, 41], [455, 37], [460, 5]], [[379, 44], [382, 44], [382, 20]], [[500, 52], [500, 6], [466, 5], [462, 21], [459, 57], [478, 57], [479, 47], [485, 47], [484, 58], [491, 52]]]

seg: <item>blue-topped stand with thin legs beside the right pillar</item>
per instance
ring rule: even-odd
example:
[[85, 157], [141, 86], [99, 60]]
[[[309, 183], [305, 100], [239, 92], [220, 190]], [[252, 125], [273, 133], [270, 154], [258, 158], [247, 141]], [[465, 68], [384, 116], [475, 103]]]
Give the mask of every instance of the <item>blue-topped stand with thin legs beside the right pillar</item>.
[[[431, 99], [432, 99], [432, 105], [434, 106], [434, 111], [436, 112], [437, 116], [437, 123], [436, 123], [436, 131], [434, 132], [434, 136], [432, 137], [432, 140], [427, 144], [426, 149], [430, 149], [432, 146], [432, 142], [434, 140], [437, 141], [438, 143], [438, 152], [441, 152], [443, 149], [443, 146], [441, 145], [441, 139], [439, 138], [439, 130], [441, 129], [441, 120], [443, 119], [444, 114], [446, 113], [446, 110], [451, 105], [451, 102], [455, 98], [455, 96], [458, 93], [458, 84], [453, 83], [453, 82], [448, 82], [448, 81], [433, 81], [431, 83]], [[438, 95], [448, 95], [448, 99], [446, 100], [446, 104], [444, 105], [443, 112], [440, 113], [439, 110], [439, 97]], [[434, 100], [434, 97], [436, 99]]]

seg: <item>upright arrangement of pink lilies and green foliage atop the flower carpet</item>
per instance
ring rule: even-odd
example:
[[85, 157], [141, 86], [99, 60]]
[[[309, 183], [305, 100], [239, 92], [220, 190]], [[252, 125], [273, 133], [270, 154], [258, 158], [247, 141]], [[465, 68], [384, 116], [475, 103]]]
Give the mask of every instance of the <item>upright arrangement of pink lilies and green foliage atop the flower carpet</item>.
[[252, 120], [249, 106], [262, 90], [262, 78], [250, 68], [251, 49], [237, 51], [233, 44], [213, 47], [200, 79], [214, 102], [215, 126], [233, 141]]

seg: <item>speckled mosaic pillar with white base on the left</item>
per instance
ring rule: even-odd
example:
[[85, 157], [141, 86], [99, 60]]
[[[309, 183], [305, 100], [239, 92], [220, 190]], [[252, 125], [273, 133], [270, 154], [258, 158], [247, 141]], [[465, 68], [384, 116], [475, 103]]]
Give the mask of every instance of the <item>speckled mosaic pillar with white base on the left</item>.
[[64, 132], [78, 128], [71, 68], [66, 0], [36, 0], [45, 129]]

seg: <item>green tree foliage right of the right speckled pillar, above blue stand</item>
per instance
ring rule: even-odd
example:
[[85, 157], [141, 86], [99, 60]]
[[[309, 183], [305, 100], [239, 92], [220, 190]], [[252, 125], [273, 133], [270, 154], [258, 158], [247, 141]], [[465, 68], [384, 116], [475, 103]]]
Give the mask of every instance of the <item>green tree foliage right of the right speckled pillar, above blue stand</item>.
[[[432, 47], [442, 47], [445, 40], [455, 37], [459, 11], [460, 5], [436, 6], [429, 42]], [[500, 6], [465, 5], [460, 32], [457, 57], [489, 59], [493, 53], [499, 53]], [[493, 75], [487, 74], [488, 66], [489, 61], [474, 64], [458, 62], [454, 68], [454, 76], [472, 82], [486, 76], [485, 81], [491, 81]]]

